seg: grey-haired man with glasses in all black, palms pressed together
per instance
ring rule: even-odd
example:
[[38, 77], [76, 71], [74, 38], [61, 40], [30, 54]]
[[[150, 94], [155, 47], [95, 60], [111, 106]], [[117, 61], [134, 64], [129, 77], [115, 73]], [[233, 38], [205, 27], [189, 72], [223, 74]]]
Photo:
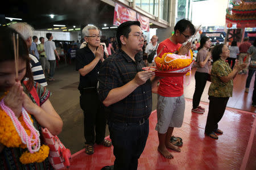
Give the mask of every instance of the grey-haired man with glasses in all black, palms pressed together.
[[100, 45], [99, 29], [87, 25], [82, 29], [87, 45], [76, 52], [76, 70], [80, 73], [79, 91], [80, 107], [84, 111], [85, 153], [94, 153], [94, 142], [110, 147], [112, 143], [106, 139], [106, 117], [104, 105], [100, 102], [97, 92], [97, 78], [100, 65], [106, 58], [103, 46]]

